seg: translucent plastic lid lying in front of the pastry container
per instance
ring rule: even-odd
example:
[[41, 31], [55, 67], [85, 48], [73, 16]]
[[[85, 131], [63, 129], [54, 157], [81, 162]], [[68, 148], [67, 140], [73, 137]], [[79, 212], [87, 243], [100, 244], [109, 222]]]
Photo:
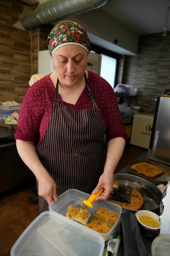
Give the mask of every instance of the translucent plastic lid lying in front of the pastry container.
[[103, 238], [52, 212], [41, 213], [21, 234], [11, 256], [102, 256]]

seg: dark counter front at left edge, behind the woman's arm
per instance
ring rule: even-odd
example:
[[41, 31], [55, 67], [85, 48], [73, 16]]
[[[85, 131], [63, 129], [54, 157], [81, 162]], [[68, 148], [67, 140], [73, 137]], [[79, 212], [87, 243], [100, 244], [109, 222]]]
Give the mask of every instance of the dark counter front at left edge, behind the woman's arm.
[[16, 148], [16, 130], [0, 127], [0, 192], [35, 180]]

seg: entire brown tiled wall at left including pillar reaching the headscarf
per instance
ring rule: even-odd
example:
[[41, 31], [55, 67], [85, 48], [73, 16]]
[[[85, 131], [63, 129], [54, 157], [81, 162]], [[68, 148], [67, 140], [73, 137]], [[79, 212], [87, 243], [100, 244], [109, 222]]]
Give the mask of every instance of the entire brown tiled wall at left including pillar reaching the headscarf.
[[19, 0], [0, 1], [1, 102], [22, 103], [31, 75], [38, 73], [38, 51], [47, 50], [47, 37], [53, 27], [41, 25], [31, 31], [15, 27], [25, 7], [30, 6]]

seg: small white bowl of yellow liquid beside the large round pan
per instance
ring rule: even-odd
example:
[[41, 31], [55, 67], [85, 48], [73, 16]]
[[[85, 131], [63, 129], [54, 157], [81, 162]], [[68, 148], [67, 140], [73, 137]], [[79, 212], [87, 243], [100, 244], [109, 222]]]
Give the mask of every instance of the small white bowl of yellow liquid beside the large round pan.
[[[141, 225], [143, 228], [145, 228], [149, 231], [152, 231], [152, 232], [158, 232], [160, 230], [161, 222], [159, 221], [159, 216], [156, 213], [151, 212], [149, 210], [139, 210], [138, 212], [135, 213], [135, 216], [136, 216], [138, 224]], [[140, 220], [140, 217], [142, 217], [142, 216], [151, 217], [152, 219], [154, 219], [154, 221], [156, 223], [158, 223], [159, 226], [154, 228], [152, 225], [144, 224]]]

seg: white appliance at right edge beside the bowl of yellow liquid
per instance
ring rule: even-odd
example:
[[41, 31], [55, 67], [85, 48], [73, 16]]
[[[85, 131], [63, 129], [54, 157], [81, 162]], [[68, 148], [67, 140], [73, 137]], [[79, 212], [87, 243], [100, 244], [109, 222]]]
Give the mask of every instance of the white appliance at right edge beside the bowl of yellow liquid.
[[160, 235], [170, 234], [170, 183], [166, 186], [160, 203]]

